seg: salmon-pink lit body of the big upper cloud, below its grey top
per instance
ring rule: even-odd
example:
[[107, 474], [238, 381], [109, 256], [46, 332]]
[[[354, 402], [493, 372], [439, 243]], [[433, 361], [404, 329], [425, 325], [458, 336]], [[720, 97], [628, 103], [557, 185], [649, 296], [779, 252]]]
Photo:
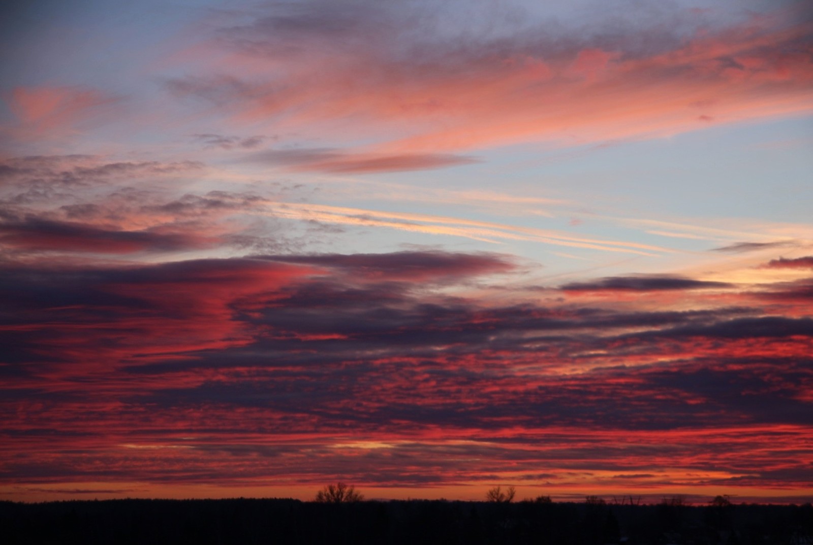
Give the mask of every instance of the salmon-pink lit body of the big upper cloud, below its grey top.
[[[228, 56], [210, 53], [211, 70], [230, 76], [176, 80], [173, 89], [217, 102], [235, 123], [378, 141], [359, 149], [370, 160], [328, 161], [317, 170], [409, 170], [411, 154], [667, 136], [708, 123], [809, 112], [811, 28], [783, 24], [767, 18], [698, 33], [651, 53], [630, 54], [621, 43], [554, 53], [516, 38], [506, 52], [485, 44], [463, 54], [441, 48], [426, 60], [396, 55], [397, 31], [389, 36], [362, 23], [357, 31], [369, 32], [376, 45], [329, 47], [306, 33], [297, 37], [302, 47], [285, 50], [284, 32], [277, 38], [267, 28], [246, 27], [232, 29], [242, 45]], [[244, 47], [252, 40], [264, 49]], [[420, 167], [426, 166], [432, 167]]]

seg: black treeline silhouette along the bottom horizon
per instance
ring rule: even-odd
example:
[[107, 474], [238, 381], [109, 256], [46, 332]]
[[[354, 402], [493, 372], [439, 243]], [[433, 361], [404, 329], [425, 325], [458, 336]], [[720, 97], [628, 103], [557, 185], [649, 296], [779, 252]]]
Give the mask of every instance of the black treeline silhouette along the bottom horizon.
[[813, 543], [811, 536], [811, 504], [325, 503], [242, 498], [0, 502], [0, 542], [7, 545], [796, 545]]

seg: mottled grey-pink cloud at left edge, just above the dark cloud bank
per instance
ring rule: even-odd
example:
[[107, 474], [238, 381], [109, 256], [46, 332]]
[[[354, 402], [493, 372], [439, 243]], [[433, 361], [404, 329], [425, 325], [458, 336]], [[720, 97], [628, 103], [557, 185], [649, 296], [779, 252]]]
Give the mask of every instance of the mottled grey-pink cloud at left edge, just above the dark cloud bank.
[[280, 197], [307, 194], [307, 188], [267, 182], [252, 190], [185, 190], [210, 174], [195, 161], [111, 161], [90, 155], [4, 159], [2, 251], [7, 257], [43, 251], [290, 252], [329, 240], [318, 223], [283, 226], [267, 210]]

